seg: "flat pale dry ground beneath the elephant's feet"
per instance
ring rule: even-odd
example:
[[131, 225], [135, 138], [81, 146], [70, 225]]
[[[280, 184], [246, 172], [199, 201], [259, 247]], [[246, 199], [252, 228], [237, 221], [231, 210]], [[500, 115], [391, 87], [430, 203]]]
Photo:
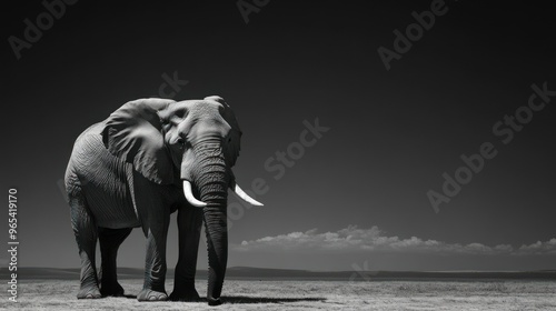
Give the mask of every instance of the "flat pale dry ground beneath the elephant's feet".
[[[259, 281], [227, 280], [226, 304], [138, 302], [130, 298], [77, 300], [78, 280], [23, 280], [19, 310], [556, 310], [554, 281]], [[137, 294], [141, 280], [120, 280], [126, 294]], [[167, 290], [171, 290], [167, 281]], [[206, 294], [206, 281], [198, 281]]]

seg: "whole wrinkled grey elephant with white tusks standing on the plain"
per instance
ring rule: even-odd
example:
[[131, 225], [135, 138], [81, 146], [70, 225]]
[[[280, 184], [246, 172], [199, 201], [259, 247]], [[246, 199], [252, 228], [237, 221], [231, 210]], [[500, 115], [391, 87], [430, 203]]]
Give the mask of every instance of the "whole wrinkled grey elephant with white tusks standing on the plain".
[[[198, 301], [195, 273], [205, 223], [207, 301], [220, 304], [228, 260], [228, 188], [248, 203], [262, 205], [241, 190], [231, 170], [240, 138], [234, 112], [217, 96], [129, 101], [85, 130], [73, 144], [64, 175], [81, 260], [78, 299], [123, 295], [117, 280], [118, 248], [133, 228], [141, 228], [147, 254], [137, 299]], [[176, 211], [179, 257], [168, 297], [166, 242], [170, 214]]]

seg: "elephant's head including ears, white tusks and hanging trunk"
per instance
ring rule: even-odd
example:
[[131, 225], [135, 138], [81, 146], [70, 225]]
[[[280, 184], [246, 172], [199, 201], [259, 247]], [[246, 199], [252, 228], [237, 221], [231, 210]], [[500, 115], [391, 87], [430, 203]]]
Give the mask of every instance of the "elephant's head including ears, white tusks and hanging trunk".
[[[230, 107], [219, 97], [176, 102], [130, 101], [106, 121], [108, 150], [159, 184], [182, 183], [183, 195], [203, 209], [209, 248], [209, 299], [220, 297], [226, 272], [227, 193], [261, 205], [235, 182], [241, 131]], [[199, 198], [200, 200], [196, 199]]]

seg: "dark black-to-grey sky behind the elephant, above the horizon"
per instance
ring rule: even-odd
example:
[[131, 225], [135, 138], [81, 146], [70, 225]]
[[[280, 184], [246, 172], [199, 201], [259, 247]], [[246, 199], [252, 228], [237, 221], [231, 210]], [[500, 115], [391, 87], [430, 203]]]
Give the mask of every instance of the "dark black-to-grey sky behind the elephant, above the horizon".
[[[79, 265], [59, 188], [73, 141], [125, 102], [161, 96], [176, 74], [188, 82], [175, 99], [218, 94], [232, 107], [238, 182], [269, 188], [257, 195], [264, 208], [236, 205], [229, 265], [556, 269], [556, 97], [527, 108], [533, 84], [556, 90], [556, 11], [446, 1], [387, 70], [377, 50], [395, 51], [394, 31], [437, 1], [391, 2], [269, 1], [246, 23], [236, 1], [78, 1], [19, 60], [10, 36], [24, 40], [24, 20], [47, 9], [4, 4], [1, 189], [18, 189], [19, 263]], [[516, 111], [526, 121], [508, 130]], [[275, 179], [265, 162], [298, 151], [304, 120], [317, 118], [329, 130]], [[485, 142], [496, 156], [435, 212], [427, 192], [443, 193], [443, 173], [454, 178], [460, 156]], [[7, 211], [1, 219], [6, 245]], [[143, 244], [135, 230], [119, 264], [142, 267]]]

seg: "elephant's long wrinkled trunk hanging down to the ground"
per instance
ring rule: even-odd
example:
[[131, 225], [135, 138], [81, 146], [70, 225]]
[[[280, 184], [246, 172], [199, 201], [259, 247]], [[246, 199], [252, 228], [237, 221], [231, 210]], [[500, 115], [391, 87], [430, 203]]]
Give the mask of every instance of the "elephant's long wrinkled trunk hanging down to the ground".
[[202, 208], [209, 259], [207, 300], [216, 305], [220, 304], [228, 262], [227, 200], [231, 173], [220, 148], [196, 151], [199, 165], [193, 182], [200, 200], [207, 204]]

